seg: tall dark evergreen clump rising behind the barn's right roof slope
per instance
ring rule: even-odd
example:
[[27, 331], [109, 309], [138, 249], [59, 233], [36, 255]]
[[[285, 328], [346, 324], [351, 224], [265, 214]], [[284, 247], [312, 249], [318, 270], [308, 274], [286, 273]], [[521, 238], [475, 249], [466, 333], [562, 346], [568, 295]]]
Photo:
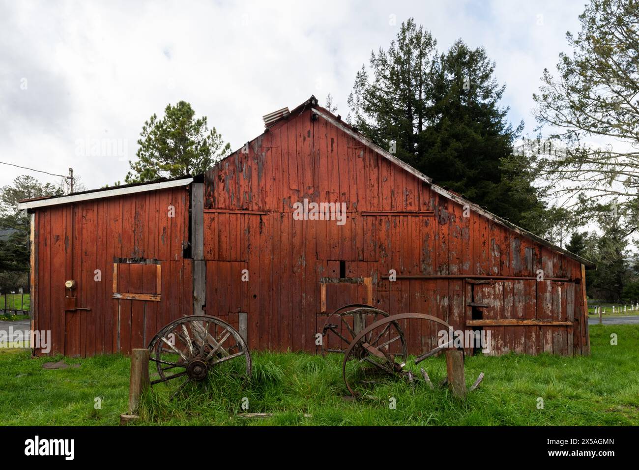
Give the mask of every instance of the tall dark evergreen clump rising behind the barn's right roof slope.
[[[532, 185], [525, 155], [512, 155], [523, 129], [507, 123], [499, 106], [505, 86], [483, 48], [458, 40], [445, 54], [413, 19], [388, 51], [373, 52], [358, 72], [348, 104], [350, 120], [383, 148], [436, 184], [463, 194], [513, 223], [544, 233], [546, 206]], [[369, 76], [370, 75], [370, 76]]]

